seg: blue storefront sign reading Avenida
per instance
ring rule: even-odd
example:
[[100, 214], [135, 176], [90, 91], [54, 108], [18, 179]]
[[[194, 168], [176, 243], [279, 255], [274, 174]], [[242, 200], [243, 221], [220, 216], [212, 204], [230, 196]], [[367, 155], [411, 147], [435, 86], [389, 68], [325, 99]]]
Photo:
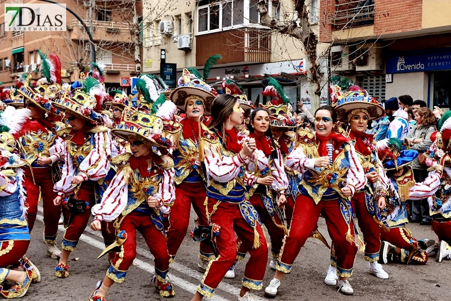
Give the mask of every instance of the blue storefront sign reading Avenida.
[[436, 50], [387, 57], [387, 73], [451, 69], [451, 50]]

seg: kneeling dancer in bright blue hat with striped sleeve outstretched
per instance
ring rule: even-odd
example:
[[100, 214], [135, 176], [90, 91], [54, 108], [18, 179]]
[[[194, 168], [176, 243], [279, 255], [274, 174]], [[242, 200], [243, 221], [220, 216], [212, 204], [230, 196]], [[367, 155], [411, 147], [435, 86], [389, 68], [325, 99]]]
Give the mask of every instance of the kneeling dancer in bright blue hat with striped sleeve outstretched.
[[427, 251], [435, 245], [433, 240], [416, 240], [407, 229], [407, 200], [420, 200], [432, 196], [440, 185], [442, 166], [436, 165], [423, 182], [416, 183], [410, 163], [418, 156], [413, 149], [402, 149], [397, 138], [383, 140], [377, 144], [379, 158], [383, 162], [387, 177], [386, 208], [381, 212], [386, 229], [380, 230], [382, 240], [379, 263], [425, 264]]

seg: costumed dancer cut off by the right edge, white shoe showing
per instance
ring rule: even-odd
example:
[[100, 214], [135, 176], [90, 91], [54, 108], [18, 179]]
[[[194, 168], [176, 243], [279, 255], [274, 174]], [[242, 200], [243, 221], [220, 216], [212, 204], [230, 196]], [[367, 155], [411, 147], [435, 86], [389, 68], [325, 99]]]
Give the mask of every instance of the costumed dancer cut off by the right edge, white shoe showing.
[[433, 144], [427, 152], [426, 164], [444, 166], [440, 186], [428, 199], [432, 230], [438, 236], [436, 260], [451, 258], [451, 111], [446, 111], [438, 123], [438, 132], [431, 135]]

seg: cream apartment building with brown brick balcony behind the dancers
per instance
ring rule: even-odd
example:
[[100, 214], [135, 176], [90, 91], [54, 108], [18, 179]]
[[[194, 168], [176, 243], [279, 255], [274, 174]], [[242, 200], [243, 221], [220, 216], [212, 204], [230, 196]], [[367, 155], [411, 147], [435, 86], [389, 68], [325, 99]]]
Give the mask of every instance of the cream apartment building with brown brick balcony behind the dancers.
[[[270, 76], [284, 78], [293, 81], [284, 87], [292, 103], [296, 105], [297, 99], [304, 99], [308, 105], [313, 92], [307, 80], [308, 62], [302, 44], [262, 26], [258, 1], [165, 1], [165, 6], [171, 7], [165, 14], [156, 8], [157, 3], [161, 6], [161, 1], [143, 4], [144, 12], [148, 11], [146, 6], [153, 10], [150, 16], [144, 16], [144, 73], [160, 73], [161, 50], [165, 51], [166, 63], [176, 64], [177, 78], [186, 67], [196, 66], [202, 73], [208, 57], [220, 54], [222, 60], [207, 79], [213, 87], [219, 88], [222, 79], [228, 76], [240, 82], [253, 103], [265, 102], [261, 94], [265, 88], [262, 82]], [[307, 2], [307, 7], [319, 33], [319, 1]], [[268, 12], [276, 19], [292, 20], [293, 2], [270, 1]], [[326, 47], [318, 47], [319, 56]], [[326, 101], [326, 86], [322, 95]]]

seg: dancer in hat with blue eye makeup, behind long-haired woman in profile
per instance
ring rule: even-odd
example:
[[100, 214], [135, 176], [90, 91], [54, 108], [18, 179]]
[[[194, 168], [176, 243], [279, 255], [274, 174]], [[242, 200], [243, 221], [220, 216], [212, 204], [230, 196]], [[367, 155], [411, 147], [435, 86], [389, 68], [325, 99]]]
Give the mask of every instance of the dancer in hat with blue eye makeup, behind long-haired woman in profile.
[[[208, 140], [208, 123], [211, 102], [217, 96], [216, 90], [202, 79], [195, 77], [187, 69], [183, 70], [178, 80], [178, 87], [171, 93], [171, 100], [186, 117], [180, 120], [182, 131], [178, 141], [174, 141], [173, 152], [175, 165], [175, 202], [169, 215], [167, 230], [167, 246], [172, 259], [186, 235], [189, 224], [191, 204], [197, 214], [199, 225], [208, 225], [205, 215], [205, 175], [200, 165], [199, 154]], [[175, 138], [176, 136], [174, 136]], [[200, 243], [199, 262], [197, 267], [205, 270], [208, 262], [214, 259], [213, 251], [204, 243]]]

